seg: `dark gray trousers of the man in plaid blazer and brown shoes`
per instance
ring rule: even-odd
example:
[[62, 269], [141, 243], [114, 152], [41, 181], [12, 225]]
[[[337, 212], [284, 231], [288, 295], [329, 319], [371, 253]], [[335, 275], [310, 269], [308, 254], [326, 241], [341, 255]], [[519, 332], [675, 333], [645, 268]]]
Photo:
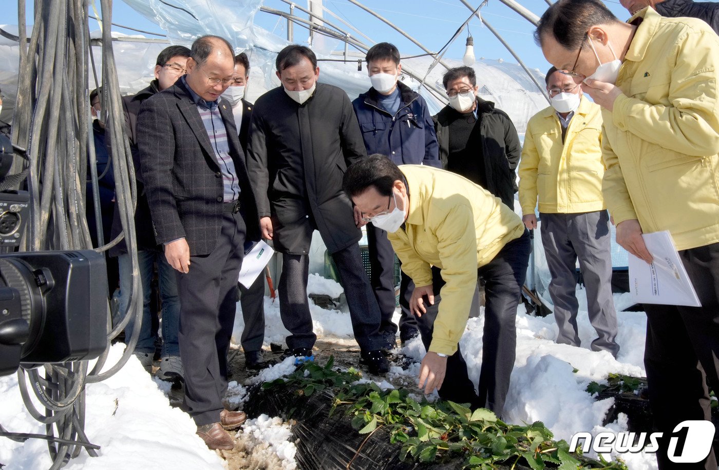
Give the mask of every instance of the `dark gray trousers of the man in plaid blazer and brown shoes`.
[[223, 214], [214, 250], [191, 256], [189, 272], [178, 272], [185, 405], [198, 426], [219, 422], [223, 409], [245, 232], [240, 213]]

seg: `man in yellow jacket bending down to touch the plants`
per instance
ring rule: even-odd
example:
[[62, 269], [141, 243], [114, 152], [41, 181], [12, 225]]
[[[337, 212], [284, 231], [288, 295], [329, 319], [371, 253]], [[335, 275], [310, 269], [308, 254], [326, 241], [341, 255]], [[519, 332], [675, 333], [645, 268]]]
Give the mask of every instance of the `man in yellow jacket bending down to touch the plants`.
[[[420, 387], [426, 393], [438, 390], [444, 400], [501, 415], [514, 367], [515, 318], [530, 252], [521, 218], [462, 176], [423, 165], [398, 167], [383, 155], [355, 162], [343, 185], [362, 221], [388, 231], [402, 270], [415, 283], [410, 310], [418, 317], [428, 351]], [[434, 276], [434, 285], [433, 267], [441, 275]], [[459, 338], [478, 276], [485, 280], [487, 301], [477, 394]]]

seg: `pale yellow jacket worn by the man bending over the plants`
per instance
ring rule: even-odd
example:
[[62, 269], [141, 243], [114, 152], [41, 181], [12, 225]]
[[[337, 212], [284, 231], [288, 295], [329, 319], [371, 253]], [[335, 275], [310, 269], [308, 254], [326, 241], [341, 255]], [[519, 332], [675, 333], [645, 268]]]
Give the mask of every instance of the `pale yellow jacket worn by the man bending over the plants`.
[[406, 229], [388, 234], [402, 270], [417, 286], [431, 285], [431, 266], [446, 282], [430, 351], [454, 354], [470, 315], [477, 268], [524, 231], [521, 218], [479, 185], [426, 165], [400, 165], [407, 179]]

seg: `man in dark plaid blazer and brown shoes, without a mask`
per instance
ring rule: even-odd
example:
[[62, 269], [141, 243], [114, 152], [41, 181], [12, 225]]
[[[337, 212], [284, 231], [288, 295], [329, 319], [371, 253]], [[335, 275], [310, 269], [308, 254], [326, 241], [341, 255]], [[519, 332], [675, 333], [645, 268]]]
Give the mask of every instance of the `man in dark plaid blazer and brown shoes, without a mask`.
[[219, 99], [234, 80], [232, 46], [198, 38], [187, 70], [143, 103], [137, 142], [155, 240], [178, 271], [185, 406], [209, 448], [232, 449], [224, 428], [247, 417], [223, 409], [227, 351], [244, 242], [260, 239], [260, 225], [232, 109]]

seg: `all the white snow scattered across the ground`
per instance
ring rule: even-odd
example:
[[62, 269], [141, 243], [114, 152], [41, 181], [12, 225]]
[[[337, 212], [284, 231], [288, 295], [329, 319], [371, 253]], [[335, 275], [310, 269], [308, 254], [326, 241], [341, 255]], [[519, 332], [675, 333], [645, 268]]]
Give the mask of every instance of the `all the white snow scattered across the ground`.
[[[336, 284], [336, 283], [334, 283]], [[334, 295], [336, 290], [331, 282], [317, 282], [316, 293]], [[582, 292], [580, 309], [586, 309]], [[628, 306], [626, 295], [615, 295], [618, 309]], [[324, 310], [311, 303], [315, 331], [324, 338], [336, 338], [339, 343], [352, 341], [352, 324], [349, 314], [339, 310]], [[265, 298], [267, 323], [266, 343], [284, 342], [288, 334], [280, 321], [279, 303]], [[395, 313], [395, 321], [399, 314]], [[533, 317], [526, 313], [523, 305], [517, 314], [516, 361], [503, 418], [509, 423], [532, 423], [543, 421], [557, 439], [569, 441], [574, 433], [589, 431], [593, 434], [613, 430], [626, 430], [626, 416], [603, 427], [602, 421], [613, 399], [596, 402], [585, 388], [592, 380], [603, 381], [610, 372], [643, 376], [644, 336], [646, 316], [644, 313], [618, 313], [621, 346], [618, 358], [605, 352], [590, 351], [594, 331], [586, 311], [580, 312], [577, 323], [582, 347], [554, 344], [557, 326], [554, 318]], [[242, 314], [239, 310], [235, 324], [234, 338], [242, 332]], [[477, 383], [482, 362], [483, 316], [471, 318], [461, 346], [470, 369], [470, 378]], [[415, 361], [421, 361], [425, 354], [419, 338], [408, 342], [401, 349], [402, 354]], [[122, 346], [111, 350], [109, 364], [122, 354]], [[227, 401], [239, 405], [247, 400], [247, 388], [251, 384], [273, 380], [292, 372], [293, 359], [265, 369], [259, 378], [251, 383], [229, 384]], [[394, 366], [388, 377], [380, 382], [381, 387], [416, 384], [419, 364], [411, 364], [407, 370]], [[139, 362], [130, 359], [127, 366], [111, 379], [99, 384], [88, 385], [87, 426], [90, 441], [103, 446], [100, 459], [91, 459], [83, 453], [70, 462], [70, 468], [115, 469], [138, 466], [140, 468], [212, 469], [223, 468], [224, 462], [216, 453], [208, 451], [200, 438], [194, 435], [195, 425], [191, 418], [168, 404], [165, 382], [150, 378]], [[0, 378], [0, 423], [8, 430], [26, 433], [43, 433], [44, 426], [33, 420], [24, 410], [15, 376]], [[429, 397], [433, 400], [436, 395]], [[417, 397], [420, 399], [421, 397]], [[293, 469], [296, 464], [296, 448], [287, 423], [279, 418], [260, 416], [248, 420], [244, 433], [238, 434], [239, 447], [255, 451], [258, 458], [265, 459], [271, 454], [283, 469]], [[253, 450], [255, 449], [255, 450]], [[264, 457], [262, 457], [264, 456]], [[654, 456], [626, 454], [623, 456], [634, 470], [656, 469]], [[10, 469], [42, 469], [50, 466], [47, 446], [44, 441], [30, 440], [15, 443], [0, 439], [0, 463]], [[73, 467], [73, 465], [75, 467]]]

